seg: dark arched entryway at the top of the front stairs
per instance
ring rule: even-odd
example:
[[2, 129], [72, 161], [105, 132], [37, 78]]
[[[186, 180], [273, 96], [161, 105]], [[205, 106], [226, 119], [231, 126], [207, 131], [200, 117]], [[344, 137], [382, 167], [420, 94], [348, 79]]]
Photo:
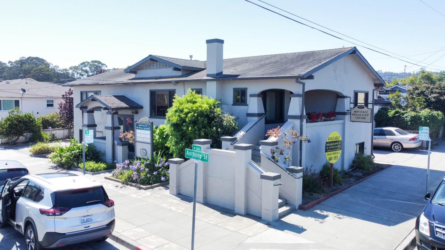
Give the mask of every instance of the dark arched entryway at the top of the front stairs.
[[287, 112], [293, 94], [285, 89], [267, 89], [260, 93], [266, 113], [266, 130], [282, 125], [287, 121]]

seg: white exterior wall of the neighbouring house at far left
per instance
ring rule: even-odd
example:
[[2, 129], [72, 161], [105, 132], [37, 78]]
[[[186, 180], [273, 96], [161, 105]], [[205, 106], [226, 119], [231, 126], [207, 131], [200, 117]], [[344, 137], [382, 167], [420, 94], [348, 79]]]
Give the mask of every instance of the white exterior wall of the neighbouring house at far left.
[[[80, 98], [80, 97], [79, 97]], [[59, 112], [59, 103], [63, 102], [61, 97], [0, 97], [0, 100], [20, 100], [22, 112], [34, 113], [35, 117]], [[47, 108], [46, 100], [54, 100], [54, 107]], [[0, 110], [0, 118], [8, 116], [8, 111]]]

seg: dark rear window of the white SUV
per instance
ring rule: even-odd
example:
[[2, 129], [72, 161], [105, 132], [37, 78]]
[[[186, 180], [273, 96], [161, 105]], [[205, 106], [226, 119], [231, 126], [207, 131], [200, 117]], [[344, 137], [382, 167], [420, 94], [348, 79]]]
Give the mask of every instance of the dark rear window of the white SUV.
[[55, 206], [74, 208], [105, 202], [105, 191], [102, 187], [91, 187], [77, 190], [56, 192]]

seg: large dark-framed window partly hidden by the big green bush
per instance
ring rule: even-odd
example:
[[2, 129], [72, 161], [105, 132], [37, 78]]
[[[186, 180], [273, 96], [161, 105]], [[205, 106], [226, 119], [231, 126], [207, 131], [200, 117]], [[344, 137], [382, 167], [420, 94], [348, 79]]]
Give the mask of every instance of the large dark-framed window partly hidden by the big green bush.
[[165, 119], [167, 109], [173, 105], [174, 89], [150, 90], [150, 117]]

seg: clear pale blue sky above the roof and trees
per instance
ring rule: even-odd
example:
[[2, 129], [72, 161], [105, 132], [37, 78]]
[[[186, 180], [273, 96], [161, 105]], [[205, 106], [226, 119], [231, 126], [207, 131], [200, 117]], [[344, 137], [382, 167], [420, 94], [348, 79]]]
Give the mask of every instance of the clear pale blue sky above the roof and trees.
[[[265, 1], [413, 60], [445, 46], [445, 16], [420, 0]], [[445, 1], [423, 1], [445, 15]], [[244, 0], [0, 0], [0, 10], [0, 61], [39, 56], [61, 68], [85, 60], [125, 68], [149, 54], [206, 60], [211, 38], [225, 40], [224, 58], [355, 46]], [[406, 64], [358, 49], [376, 70]], [[445, 56], [433, 65], [444, 69]]]

